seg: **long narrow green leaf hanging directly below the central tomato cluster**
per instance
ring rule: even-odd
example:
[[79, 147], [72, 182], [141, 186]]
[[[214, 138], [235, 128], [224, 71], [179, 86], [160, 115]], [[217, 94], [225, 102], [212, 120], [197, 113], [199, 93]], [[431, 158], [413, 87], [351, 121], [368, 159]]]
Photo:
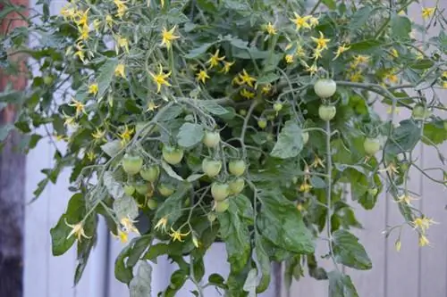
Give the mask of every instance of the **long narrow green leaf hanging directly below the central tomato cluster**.
[[247, 223], [240, 219], [237, 204], [230, 199], [230, 207], [223, 213], [218, 213], [220, 233], [226, 246], [228, 262], [231, 271], [240, 272], [249, 261], [250, 237]]

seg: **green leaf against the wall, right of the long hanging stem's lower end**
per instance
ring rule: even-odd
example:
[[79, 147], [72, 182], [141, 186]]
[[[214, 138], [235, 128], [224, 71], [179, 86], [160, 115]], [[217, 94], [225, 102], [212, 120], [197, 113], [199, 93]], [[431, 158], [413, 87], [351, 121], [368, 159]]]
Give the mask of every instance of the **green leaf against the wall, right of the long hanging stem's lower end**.
[[337, 263], [350, 268], [367, 270], [373, 267], [358, 238], [346, 230], [333, 232], [333, 253]]

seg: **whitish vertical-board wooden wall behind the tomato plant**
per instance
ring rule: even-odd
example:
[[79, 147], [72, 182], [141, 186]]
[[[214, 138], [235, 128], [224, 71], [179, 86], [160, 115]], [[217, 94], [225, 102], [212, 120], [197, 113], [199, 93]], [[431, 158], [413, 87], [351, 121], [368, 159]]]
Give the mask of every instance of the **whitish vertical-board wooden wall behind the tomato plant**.
[[[35, 0], [31, 1], [32, 3]], [[426, 6], [433, 6], [435, 0], [426, 1]], [[51, 5], [53, 13], [60, 11], [63, 2]], [[447, 0], [441, 0], [439, 5], [447, 8]], [[412, 8], [412, 15], [420, 20], [420, 8]], [[447, 95], [447, 92], [446, 92]], [[447, 96], [444, 98], [447, 103]], [[384, 112], [385, 114], [385, 112]], [[401, 114], [406, 117], [408, 114]], [[445, 114], [444, 114], [445, 116]], [[63, 144], [57, 144], [61, 148]], [[419, 165], [422, 168], [439, 166], [436, 153], [431, 147], [418, 148], [420, 152]], [[442, 152], [447, 154], [447, 144]], [[27, 161], [26, 193], [27, 201], [33, 197], [38, 181], [43, 178], [40, 169], [52, 167], [52, 156], [55, 149], [52, 144], [41, 141], [38, 148], [33, 150]], [[122, 244], [110, 239], [110, 255], [107, 257], [107, 231], [104, 224], [100, 224], [100, 237], [97, 248], [90, 256], [89, 265], [84, 272], [80, 284], [73, 288], [72, 279], [75, 268], [76, 255], [74, 249], [61, 257], [51, 255], [51, 241], [49, 229], [55, 226], [57, 219], [63, 213], [66, 202], [71, 194], [67, 191], [69, 172], [63, 172], [57, 185], [49, 185], [37, 202], [26, 206], [25, 224], [25, 269], [24, 296], [25, 297], [125, 297], [129, 293], [125, 285], [114, 280], [114, 259], [121, 251]], [[439, 177], [442, 178], [442, 177]], [[394, 249], [395, 236], [384, 238], [382, 231], [385, 227], [402, 223], [397, 206], [390, 197], [383, 195], [379, 198], [375, 210], [362, 210], [355, 202], [358, 210], [358, 220], [365, 227], [358, 230], [360, 242], [366, 246], [373, 261], [373, 269], [369, 271], [351, 271], [346, 268], [354, 284], [358, 288], [360, 297], [444, 297], [447, 296], [447, 193], [441, 186], [436, 186], [418, 172], [411, 175], [411, 190], [421, 194], [422, 199], [416, 202], [428, 216], [439, 222], [439, 225], [428, 230], [428, 237], [432, 247], [418, 248], [417, 235], [407, 227], [401, 236], [401, 252]], [[321, 244], [320, 244], [321, 245]], [[327, 252], [324, 245], [317, 247], [322, 255]], [[207, 274], [219, 272], [228, 273], [225, 264], [223, 244], [217, 243], [207, 254]], [[109, 270], [105, 271], [108, 262]], [[330, 268], [330, 263], [323, 263]], [[156, 293], [169, 284], [169, 276], [175, 268], [160, 260], [153, 274], [153, 291]], [[105, 285], [108, 286], [105, 288]], [[193, 286], [188, 284], [179, 293], [189, 296], [188, 290]], [[206, 291], [207, 297], [219, 296], [214, 289]], [[155, 296], [155, 295], [154, 295]], [[263, 294], [273, 297], [274, 288]], [[327, 282], [307, 278], [292, 285], [291, 296], [324, 297], [327, 296]], [[277, 297], [277, 296], [275, 296]]]

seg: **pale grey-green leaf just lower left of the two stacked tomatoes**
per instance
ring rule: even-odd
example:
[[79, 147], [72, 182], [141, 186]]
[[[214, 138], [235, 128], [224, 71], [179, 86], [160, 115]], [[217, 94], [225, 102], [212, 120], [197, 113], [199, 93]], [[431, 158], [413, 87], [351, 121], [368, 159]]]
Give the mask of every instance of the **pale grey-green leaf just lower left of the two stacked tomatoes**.
[[274, 149], [270, 155], [280, 158], [295, 158], [303, 149], [303, 138], [301, 128], [294, 121], [288, 120], [278, 136], [278, 141], [274, 144]]

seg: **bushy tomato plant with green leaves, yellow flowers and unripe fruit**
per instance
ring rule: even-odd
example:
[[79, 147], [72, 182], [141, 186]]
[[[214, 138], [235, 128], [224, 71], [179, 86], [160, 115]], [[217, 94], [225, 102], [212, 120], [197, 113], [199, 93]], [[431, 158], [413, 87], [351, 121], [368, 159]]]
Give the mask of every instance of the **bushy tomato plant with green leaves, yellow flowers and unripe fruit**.
[[[162, 255], [178, 265], [163, 296], [187, 281], [196, 296], [208, 285], [256, 296], [272, 262], [285, 263], [288, 286], [311, 276], [329, 279], [332, 297], [358, 296], [342, 266], [373, 263], [352, 232], [363, 223], [356, 209], [374, 209], [385, 192], [405, 221], [387, 235], [416, 229], [426, 245], [433, 222], [411, 205], [408, 181], [418, 170], [447, 186], [447, 36], [426, 37], [447, 24], [439, 9], [415, 23], [405, 14], [413, 2], [79, 0], [62, 16], [44, 2], [39, 22], [2, 36], [0, 56], [11, 57], [2, 71], [20, 73], [13, 57], [23, 54], [35, 71], [28, 89], [0, 94], [0, 109], [20, 111], [0, 141], [18, 130], [25, 152], [42, 139], [55, 145], [36, 199], [72, 169], [74, 194], [51, 236], [55, 255], [77, 243], [74, 283], [98, 215], [124, 244], [114, 274], [132, 297], [150, 294], [148, 261]], [[0, 20], [18, 10], [4, 4]], [[418, 145], [434, 147], [442, 165], [420, 168]], [[222, 164], [215, 177], [205, 159]], [[143, 178], [152, 166], [159, 174]], [[225, 244], [228, 276], [204, 264], [215, 242]]]

